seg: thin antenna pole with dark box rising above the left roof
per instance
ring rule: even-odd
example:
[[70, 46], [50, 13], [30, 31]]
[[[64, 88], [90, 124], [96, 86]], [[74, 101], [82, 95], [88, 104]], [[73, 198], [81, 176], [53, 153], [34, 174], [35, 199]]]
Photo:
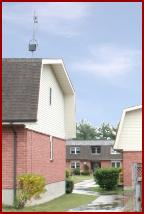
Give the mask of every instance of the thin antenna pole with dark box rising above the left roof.
[[36, 51], [37, 46], [38, 46], [38, 42], [35, 39], [36, 25], [37, 24], [38, 24], [38, 16], [36, 15], [36, 13], [34, 11], [34, 15], [33, 15], [33, 34], [32, 34], [32, 39], [29, 41], [29, 51], [32, 53], [32, 57], [33, 57], [34, 51]]

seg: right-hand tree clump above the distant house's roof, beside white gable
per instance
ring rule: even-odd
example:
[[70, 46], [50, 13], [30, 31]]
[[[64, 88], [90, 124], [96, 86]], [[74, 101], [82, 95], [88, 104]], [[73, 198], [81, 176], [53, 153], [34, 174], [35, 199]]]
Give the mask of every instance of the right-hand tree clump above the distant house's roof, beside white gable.
[[97, 138], [100, 140], [115, 140], [118, 127], [113, 127], [109, 123], [102, 123], [97, 129]]

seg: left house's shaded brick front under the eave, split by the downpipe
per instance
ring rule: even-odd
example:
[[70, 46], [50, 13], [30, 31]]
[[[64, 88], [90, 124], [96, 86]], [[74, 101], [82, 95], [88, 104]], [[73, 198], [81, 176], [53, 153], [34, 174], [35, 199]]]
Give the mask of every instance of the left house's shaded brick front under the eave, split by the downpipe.
[[[17, 127], [17, 172], [26, 171], [26, 131], [22, 127]], [[10, 127], [2, 129], [2, 186], [12, 188], [13, 186], [13, 132]]]

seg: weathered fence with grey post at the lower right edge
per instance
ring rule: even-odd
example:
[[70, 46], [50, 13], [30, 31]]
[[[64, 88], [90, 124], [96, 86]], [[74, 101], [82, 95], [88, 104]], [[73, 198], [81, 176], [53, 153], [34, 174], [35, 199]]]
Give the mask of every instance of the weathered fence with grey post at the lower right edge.
[[142, 211], [142, 164], [133, 164], [134, 211]]

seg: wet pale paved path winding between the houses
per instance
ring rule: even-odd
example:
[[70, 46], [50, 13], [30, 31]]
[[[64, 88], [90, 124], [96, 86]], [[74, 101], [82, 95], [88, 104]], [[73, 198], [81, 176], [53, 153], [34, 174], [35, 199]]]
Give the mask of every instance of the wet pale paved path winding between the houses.
[[96, 187], [93, 179], [85, 180], [74, 185], [73, 193], [95, 195], [96, 199], [87, 205], [70, 209], [70, 212], [122, 212], [124, 209], [122, 195], [104, 195], [89, 191], [90, 187]]

